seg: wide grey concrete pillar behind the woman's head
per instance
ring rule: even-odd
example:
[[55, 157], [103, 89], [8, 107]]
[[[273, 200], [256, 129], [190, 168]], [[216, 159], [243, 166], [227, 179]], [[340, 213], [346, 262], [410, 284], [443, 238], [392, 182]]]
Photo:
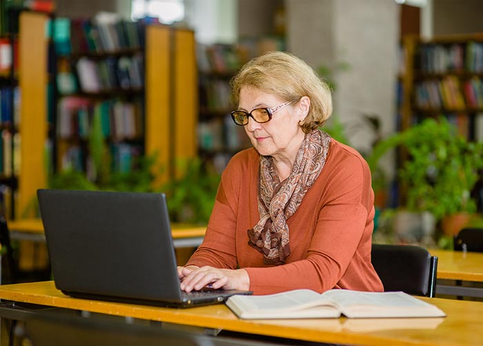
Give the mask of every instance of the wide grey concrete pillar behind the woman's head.
[[[303, 3], [303, 6], [301, 6]], [[288, 50], [335, 73], [334, 113], [351, 145], [368, 151], [373, 132], [363, 114], [377, 114], [385, 134], [395, 129], [399, 7], [386, 0], [287, 0]], [[349, 65], [337, 71], [339, 63]]]

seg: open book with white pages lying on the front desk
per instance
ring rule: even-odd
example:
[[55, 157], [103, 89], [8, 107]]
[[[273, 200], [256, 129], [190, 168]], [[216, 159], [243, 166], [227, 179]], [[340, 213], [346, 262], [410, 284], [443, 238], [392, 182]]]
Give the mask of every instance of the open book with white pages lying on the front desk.
[[358, 292], [310, 289], [266, 296], [231, 296], [226, 305], [240, 318], [348, 318], [444, 317], [430, 303], [404, 292]]

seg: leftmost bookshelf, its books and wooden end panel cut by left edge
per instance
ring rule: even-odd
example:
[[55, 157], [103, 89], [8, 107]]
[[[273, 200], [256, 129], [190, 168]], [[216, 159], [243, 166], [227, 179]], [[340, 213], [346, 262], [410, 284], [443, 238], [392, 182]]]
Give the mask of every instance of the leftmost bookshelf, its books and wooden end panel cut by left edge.
[[16, 218], [46, 182], [42, 168], [50, 17], [23, 8], [19, 1], [1, 1], [0, 6], [0, 194], [3, 215]]

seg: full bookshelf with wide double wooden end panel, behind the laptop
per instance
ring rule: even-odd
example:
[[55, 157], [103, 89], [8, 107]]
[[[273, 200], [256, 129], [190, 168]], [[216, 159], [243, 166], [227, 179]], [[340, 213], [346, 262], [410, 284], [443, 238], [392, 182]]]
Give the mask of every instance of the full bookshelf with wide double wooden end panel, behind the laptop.
[[95, 179], [88, 137], [100, 118], [112, 170], [135, 170], [137, 157], [157, 154], [155, 187], [179, 174], [176, 161], [196, 154], [194, 32], [105, 16], [63, 18], [57, 29], [70, 32], [57, 33], [55, 170]]

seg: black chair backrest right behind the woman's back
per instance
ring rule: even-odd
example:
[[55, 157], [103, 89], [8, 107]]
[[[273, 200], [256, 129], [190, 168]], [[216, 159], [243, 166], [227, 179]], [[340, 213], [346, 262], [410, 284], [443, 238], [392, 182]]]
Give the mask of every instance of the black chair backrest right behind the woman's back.
[[431, 256], [424, 247], [373, 244], [371, 261], [384, 291], [435, 296], [437, 257]]

